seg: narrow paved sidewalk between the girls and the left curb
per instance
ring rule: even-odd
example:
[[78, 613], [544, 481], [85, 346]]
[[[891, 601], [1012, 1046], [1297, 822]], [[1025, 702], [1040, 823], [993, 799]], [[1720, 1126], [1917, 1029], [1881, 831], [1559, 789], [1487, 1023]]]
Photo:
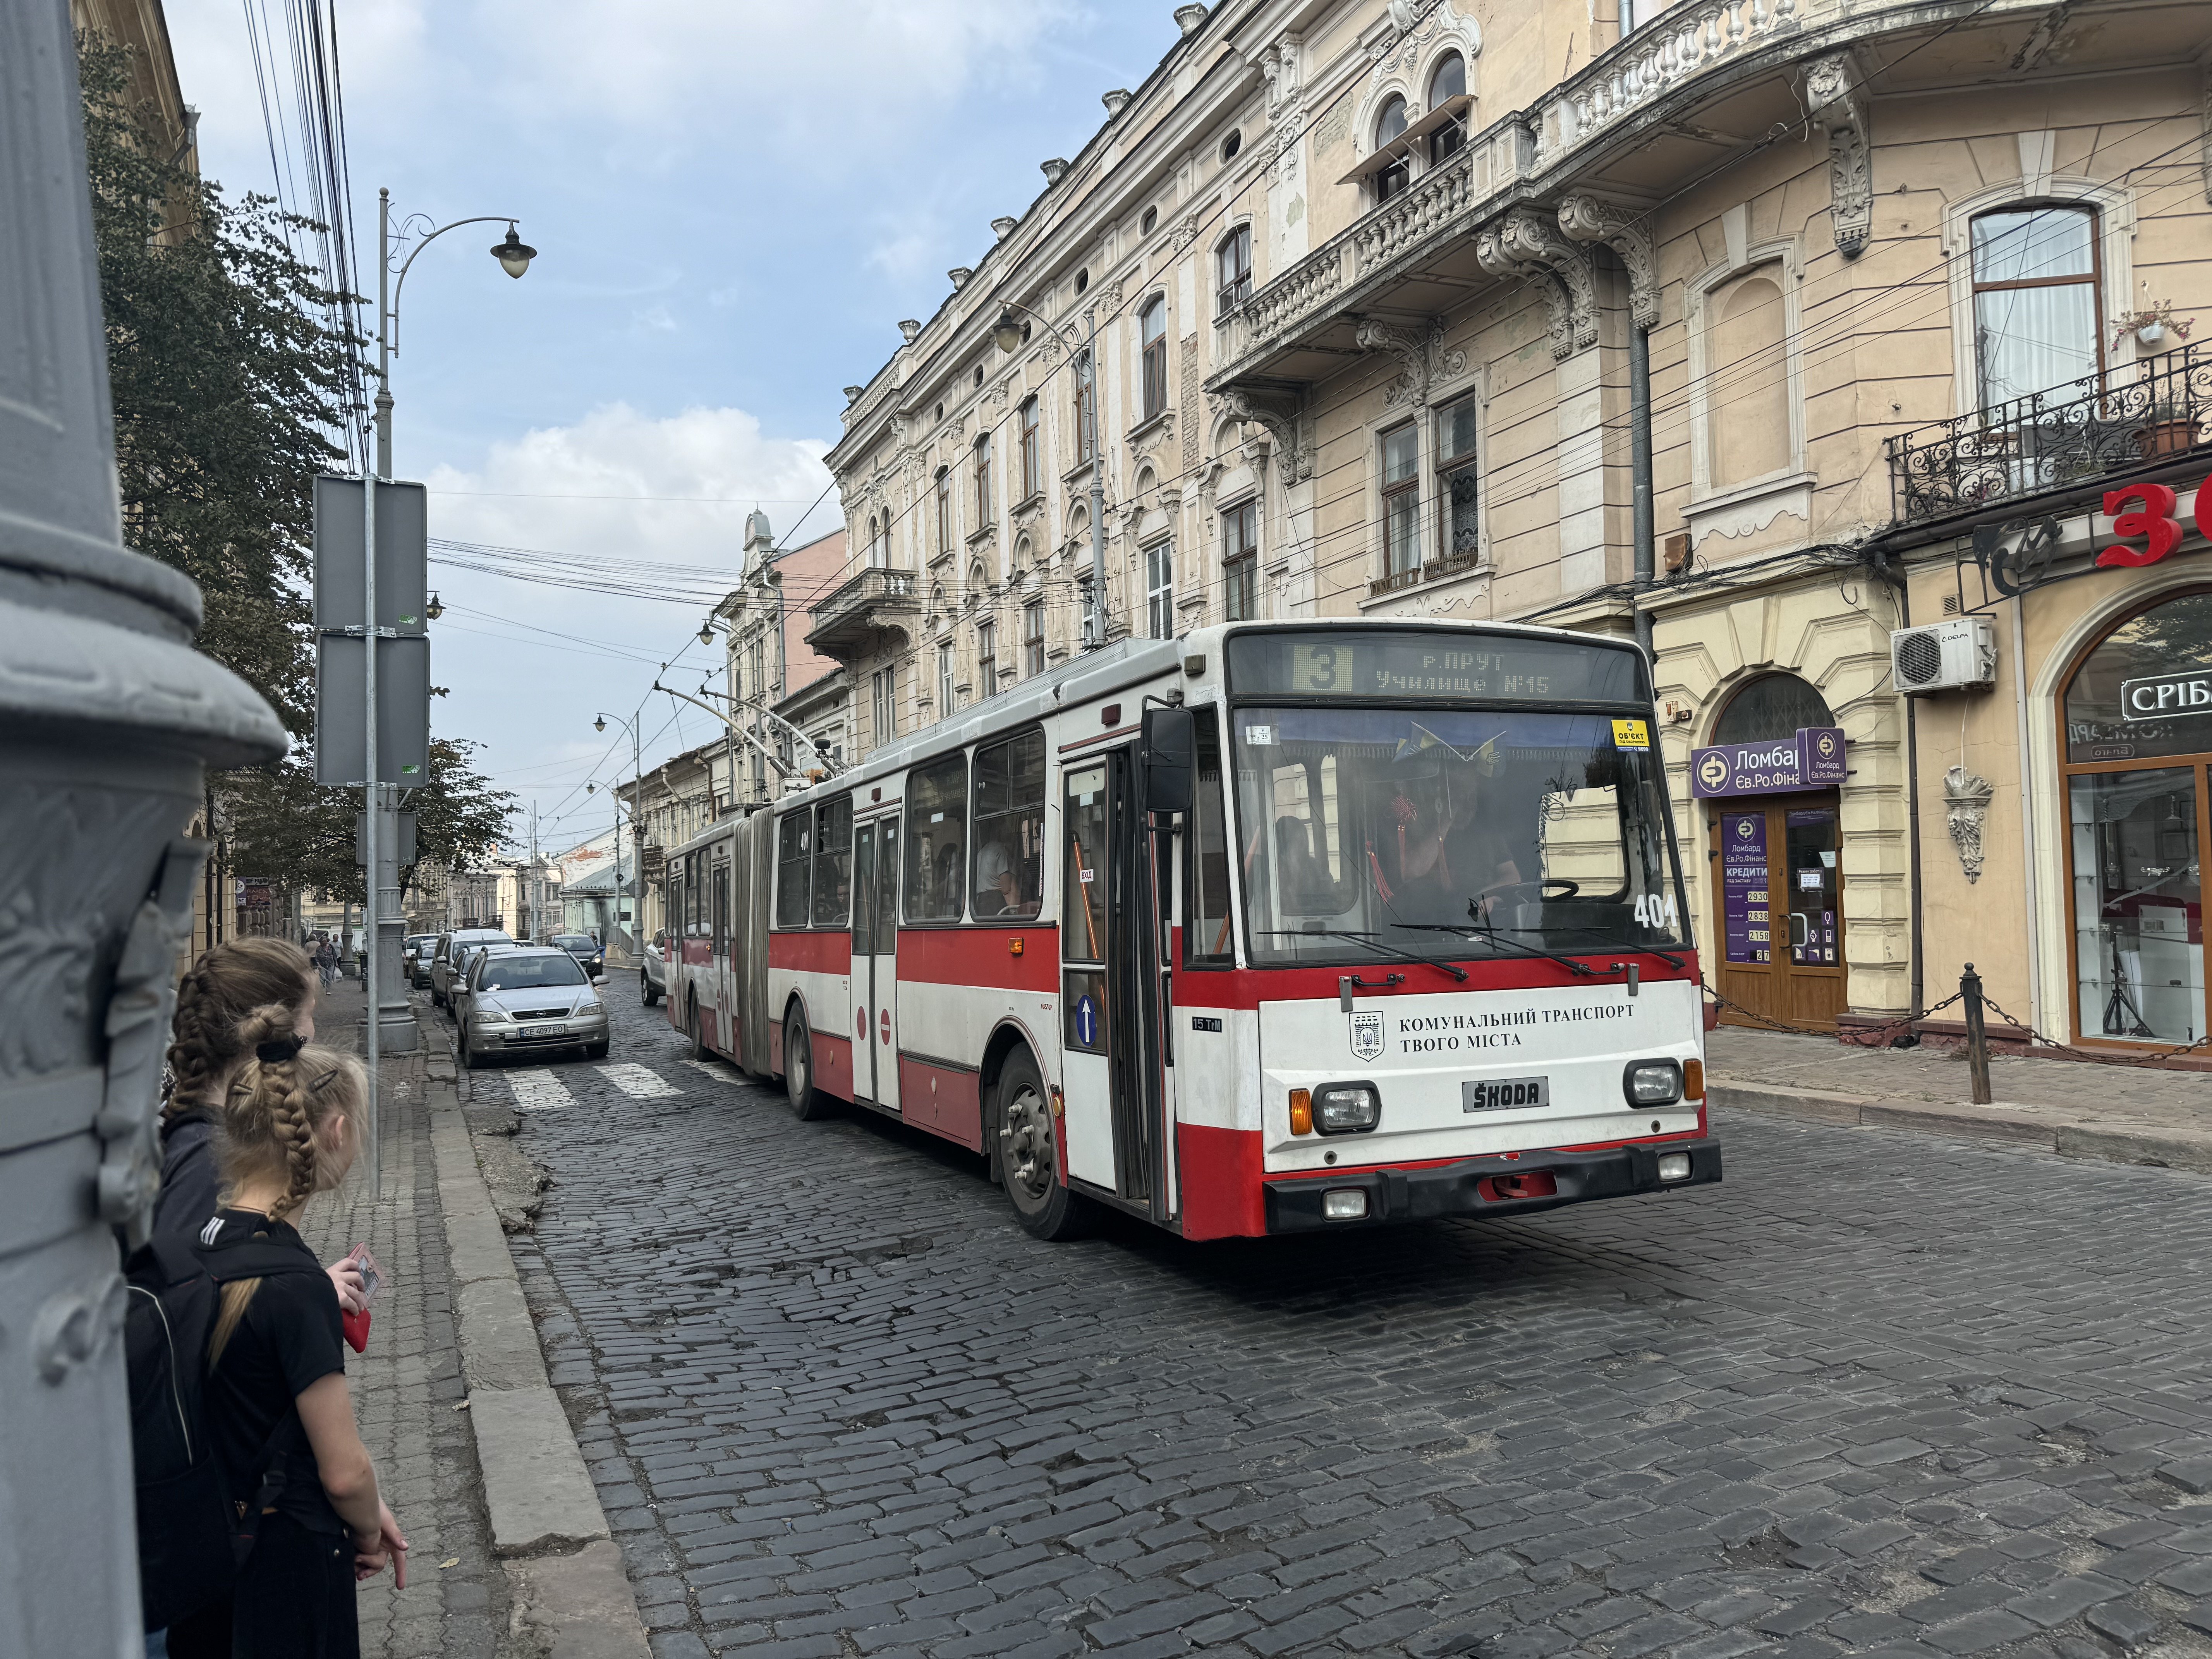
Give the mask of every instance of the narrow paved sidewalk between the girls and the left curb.
[[[361, 1053], [358, 980], [338, 980], [316, 1013], [316, 1040]], [[445, 1214], [431, 1164], [425, 1055], [387, 1055], [378, 1150], [383, 1192], [365, 1166], [307, 1208], [301, 1228], [323, 1261], [367, 1243], [385, 1270], [369, 1347], [345, 1356], [361, 1438], [385, 1502], [407, 1533], [407, 1588], [385, 1573], [361, 1586], [363, 1659], [493, 1659], [507, 1632], [507, 1575], [491, 1557], [476, 1436], [453, 1327]]]

